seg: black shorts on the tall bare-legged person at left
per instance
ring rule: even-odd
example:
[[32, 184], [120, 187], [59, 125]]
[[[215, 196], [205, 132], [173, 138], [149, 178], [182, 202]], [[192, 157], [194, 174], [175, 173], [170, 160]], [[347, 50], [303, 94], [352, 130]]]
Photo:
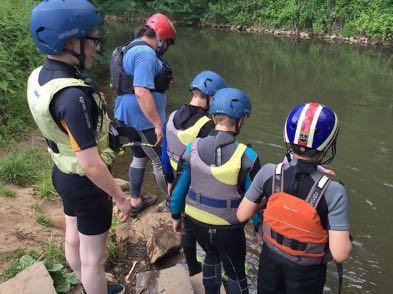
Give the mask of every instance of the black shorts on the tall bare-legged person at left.
[[84, 235], [99, 235], [112, 224], [112, 198], [86, 176], [70, 175], [55, 165], [52, 182], [63, 200], [64, 213], [76, 216], [78, 231]]

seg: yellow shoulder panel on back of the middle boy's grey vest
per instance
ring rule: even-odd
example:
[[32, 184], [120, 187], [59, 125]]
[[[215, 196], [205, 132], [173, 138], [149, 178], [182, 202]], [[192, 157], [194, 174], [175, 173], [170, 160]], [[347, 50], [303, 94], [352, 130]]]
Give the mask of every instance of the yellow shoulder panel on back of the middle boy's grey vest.
[[227, 185], [237, 185], [242, 156], [246, 148], [247, 145], [239, 143], [232, 157], [225, 164], [211, 167], [211, 173], [217, 181]]

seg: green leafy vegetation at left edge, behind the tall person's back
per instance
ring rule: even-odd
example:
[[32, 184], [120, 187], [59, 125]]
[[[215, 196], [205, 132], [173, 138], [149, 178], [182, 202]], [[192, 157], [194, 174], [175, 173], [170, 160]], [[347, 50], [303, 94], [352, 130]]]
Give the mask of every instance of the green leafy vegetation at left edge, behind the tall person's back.
[[34, 0], [0, 1], [0, 145], [10, 145], [35, 127], [26, 101], [26, 81], [43, 60], [30, 36]]

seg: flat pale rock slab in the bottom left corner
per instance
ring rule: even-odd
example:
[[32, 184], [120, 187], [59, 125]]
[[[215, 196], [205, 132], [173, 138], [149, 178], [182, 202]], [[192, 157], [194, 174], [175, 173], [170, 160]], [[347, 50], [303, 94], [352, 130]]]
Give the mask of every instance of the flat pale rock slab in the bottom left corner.
[[45, 265], [37, 262], [0, 285], [1, 294], [56, 294]]

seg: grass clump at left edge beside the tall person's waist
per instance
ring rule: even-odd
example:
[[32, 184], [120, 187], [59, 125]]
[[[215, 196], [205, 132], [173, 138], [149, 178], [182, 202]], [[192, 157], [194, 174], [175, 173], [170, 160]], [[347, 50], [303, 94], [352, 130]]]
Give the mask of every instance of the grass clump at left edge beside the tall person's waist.
[[0, 180], [30, 186], [50, 173], [51, 162], [38, 148], [14, 150], [0, 160]]

